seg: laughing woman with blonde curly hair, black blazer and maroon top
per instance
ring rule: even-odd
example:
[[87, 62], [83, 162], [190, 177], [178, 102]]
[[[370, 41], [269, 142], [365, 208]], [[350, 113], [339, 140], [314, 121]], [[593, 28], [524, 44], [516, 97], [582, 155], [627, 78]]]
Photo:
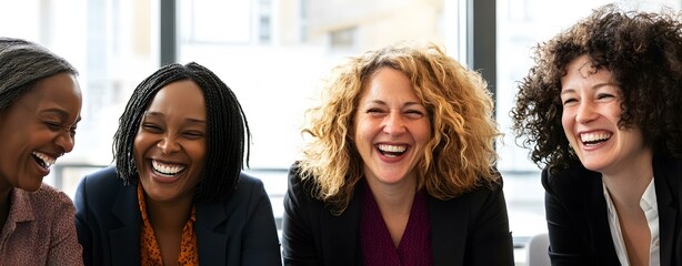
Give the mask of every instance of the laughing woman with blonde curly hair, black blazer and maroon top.
[[513, 265], [481, 75], [433, 44], [334, 69], [289, 173], [285, 265]]

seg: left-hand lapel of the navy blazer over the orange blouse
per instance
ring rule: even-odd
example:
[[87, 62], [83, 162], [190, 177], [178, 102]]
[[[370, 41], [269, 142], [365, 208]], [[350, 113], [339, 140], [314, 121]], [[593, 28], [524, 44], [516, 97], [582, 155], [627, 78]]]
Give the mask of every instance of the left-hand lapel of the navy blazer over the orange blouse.
[[121, 227], [109, 231], [112, 265], [140, 264], [140, 206], [137, 185], [121, 186], [111, 213], [121, 222]]

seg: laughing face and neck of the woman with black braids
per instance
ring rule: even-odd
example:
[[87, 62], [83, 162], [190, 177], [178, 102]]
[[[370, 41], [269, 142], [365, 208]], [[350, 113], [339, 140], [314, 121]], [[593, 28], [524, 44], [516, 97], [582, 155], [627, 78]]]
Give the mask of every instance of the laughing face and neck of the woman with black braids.
[[177, 81], [157, 93], [133, 149], [162, 259], [177, 262], [182, 227], [205, 165], [207, 113], [197, 83]]

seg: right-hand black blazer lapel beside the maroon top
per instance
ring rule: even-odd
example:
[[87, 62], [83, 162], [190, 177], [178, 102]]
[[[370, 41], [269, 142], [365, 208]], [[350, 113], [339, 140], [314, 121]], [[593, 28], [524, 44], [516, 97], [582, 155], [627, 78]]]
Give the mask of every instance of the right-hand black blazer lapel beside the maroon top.
[[468, 211], [462, 209], [462, 201], [440, 201], [429, 196], [427, 204], [433, 265], [459, 265], [464, 260], [464, 254], [454, 250], [464, 250], [469, 217], [462, 215]]

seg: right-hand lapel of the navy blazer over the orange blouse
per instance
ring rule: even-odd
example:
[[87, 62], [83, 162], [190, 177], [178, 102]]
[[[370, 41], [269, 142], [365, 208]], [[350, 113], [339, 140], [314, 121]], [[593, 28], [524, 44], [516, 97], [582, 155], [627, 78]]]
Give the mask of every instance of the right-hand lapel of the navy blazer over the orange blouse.
[[222, 205], [197, 204], [194, 231], [200, 264], [227, 265], [228, 235], [217, 229], [227, 219], [227, 211]]

